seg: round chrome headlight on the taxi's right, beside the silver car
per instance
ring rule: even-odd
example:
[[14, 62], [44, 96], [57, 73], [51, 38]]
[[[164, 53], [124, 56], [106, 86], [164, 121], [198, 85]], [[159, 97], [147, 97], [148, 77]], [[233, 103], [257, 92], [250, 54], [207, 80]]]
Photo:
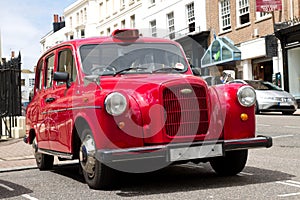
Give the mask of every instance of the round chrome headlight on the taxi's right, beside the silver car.
[[255, 90], [251, 86], [242, 86], [237, 91], [239, 103], [242, 106], [250, 107], [256, 102]]

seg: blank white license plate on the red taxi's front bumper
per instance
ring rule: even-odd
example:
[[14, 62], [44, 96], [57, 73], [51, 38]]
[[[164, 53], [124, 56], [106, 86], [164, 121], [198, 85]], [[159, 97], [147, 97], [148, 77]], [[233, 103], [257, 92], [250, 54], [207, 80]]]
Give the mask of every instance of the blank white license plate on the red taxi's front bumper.
[[190, 160], [223, 156], [222, 144], [170, 149], [170, 161]]

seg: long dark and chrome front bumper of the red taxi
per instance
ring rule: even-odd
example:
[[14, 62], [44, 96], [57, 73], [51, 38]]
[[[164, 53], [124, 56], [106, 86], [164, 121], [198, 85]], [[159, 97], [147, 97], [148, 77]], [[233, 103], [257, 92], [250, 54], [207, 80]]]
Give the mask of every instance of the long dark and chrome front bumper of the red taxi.
[[126, 149], [97, 150], [96, 159], [102, 163], [162, 160], [166, 163], [224, 156], [227, 151], [269, 148], [272, 138], [257, 136], [237, 140], [200, 141]]

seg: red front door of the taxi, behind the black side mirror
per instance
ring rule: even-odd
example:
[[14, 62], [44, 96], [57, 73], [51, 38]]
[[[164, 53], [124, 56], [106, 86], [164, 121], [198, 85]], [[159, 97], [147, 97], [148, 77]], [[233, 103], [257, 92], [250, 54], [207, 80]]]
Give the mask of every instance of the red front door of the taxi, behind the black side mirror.
[[51, 122], [50, 146], [54, 151], [71, 152], [72, 119], [70, 117], [72, 108], [70, 100], [73, 95], [73, 85], [76, 82], [77, 71], [75, 67], [72, 49], [64, 46], [56, 50], [56, 62], [54, 72], [67, 72], [67, 82], [53, 81], [52, 92], [48, 93], [48, 116]]

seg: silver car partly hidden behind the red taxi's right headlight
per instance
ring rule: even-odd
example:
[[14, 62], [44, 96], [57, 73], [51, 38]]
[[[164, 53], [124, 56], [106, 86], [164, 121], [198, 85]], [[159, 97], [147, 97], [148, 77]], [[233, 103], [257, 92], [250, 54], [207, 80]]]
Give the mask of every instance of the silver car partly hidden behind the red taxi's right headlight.
[[251, 85], [256, 92], [256, 113], [282, 112], [291, 115], [297, 110], [296, 99], [280, 87], [262, 80], [233, 80], [229, 83], [243, 83]]

